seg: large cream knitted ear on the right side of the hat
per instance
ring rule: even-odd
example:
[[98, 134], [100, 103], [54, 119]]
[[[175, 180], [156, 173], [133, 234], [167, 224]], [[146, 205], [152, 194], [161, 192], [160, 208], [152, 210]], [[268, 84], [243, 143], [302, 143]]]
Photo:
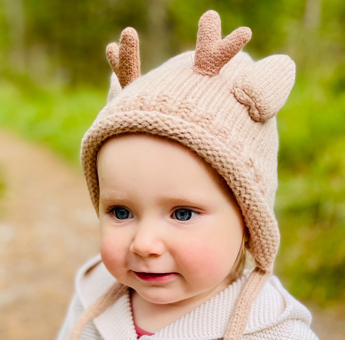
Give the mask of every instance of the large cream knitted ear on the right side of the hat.
[[231, 92], [254, 121], [265, 122], [282, 108], [294, 82], [295, 63], [286, 55], [273, 55], [246, 70]]

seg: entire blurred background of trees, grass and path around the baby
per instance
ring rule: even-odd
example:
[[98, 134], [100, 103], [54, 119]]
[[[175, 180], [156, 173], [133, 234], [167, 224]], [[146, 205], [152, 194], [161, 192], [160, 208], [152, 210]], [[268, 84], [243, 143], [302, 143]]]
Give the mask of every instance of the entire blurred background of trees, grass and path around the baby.
[[255, 60], [283, 53], [296, 62], [296, 84], [277, 115], [282, 239], [275, 273], [312, 309], [320, 339], [343, 339], [341, 0], [1, 0], [1, 339], [54, 338], [76, 268], [97, 253], [79, 149], [106, 102], [107, 44], [134, 27], [144, 74], [195, 48], [198, 20], [208, 9], [218, 11], [223, 37], [239, 26], [252, 29], [244, 50]]

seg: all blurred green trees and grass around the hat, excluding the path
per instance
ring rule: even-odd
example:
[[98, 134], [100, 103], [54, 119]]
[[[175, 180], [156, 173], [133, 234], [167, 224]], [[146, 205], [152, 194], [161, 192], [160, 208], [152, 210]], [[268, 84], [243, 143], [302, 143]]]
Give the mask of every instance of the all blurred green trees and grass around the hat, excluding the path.
[[[105, 47], [137, 29], [142, 73], [195, 47], [217, 10], [223, 34], [248, 26], [254, 59], [289, 54], [296, 85], [278, 113], [282, 234], [275, 272], [300, 299], [345, 303], [345, 2], [340, 0], [1, 0], [0, 127], [76, 166], [105, 104]], [[6, 184], [6, 183], [5, 183]]]

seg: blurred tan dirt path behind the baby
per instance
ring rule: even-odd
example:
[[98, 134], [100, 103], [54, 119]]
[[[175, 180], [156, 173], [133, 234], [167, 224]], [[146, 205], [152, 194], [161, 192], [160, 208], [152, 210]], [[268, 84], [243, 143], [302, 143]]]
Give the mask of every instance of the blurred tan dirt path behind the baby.
[[[42, 147], [0, 132], [0, 170], [0, 339], [55, 339], [97, 217], [82, 174]], [[314, 310], [320, 340], [345, 338], [345, 315]]]

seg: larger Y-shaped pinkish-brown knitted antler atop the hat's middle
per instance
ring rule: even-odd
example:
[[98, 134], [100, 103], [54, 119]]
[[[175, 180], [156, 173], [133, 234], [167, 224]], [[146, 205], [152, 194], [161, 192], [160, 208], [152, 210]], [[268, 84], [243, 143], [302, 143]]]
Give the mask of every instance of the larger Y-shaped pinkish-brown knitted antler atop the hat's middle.
[[250, 28], [239, 27], [222, 40], [218, 13], [207, 11], [199, 21], [194, 72], [201, 75], [217, 75], [251, 37]]

